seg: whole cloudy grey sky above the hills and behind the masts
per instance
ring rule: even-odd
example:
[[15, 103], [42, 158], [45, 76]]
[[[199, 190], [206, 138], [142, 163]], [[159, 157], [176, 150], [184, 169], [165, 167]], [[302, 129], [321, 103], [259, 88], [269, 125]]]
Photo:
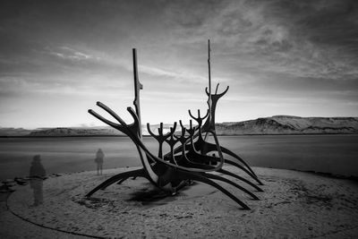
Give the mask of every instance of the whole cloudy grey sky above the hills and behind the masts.
[[142, 123], [188, 123], [212, 90], [216, 121], [358, 116], [358, 1], [0, 2], [0, 127], [124, 121], [137, 49]]

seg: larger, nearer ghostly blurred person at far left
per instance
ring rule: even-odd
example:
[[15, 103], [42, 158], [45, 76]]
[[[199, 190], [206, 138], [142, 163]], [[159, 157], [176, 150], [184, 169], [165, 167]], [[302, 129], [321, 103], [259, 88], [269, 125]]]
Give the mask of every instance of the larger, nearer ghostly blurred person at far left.
[[34, 195], [33, 206], [38, 206], [44, 202], [42, 187], [45, 176], [46, 171], [41, 164], [41, 158], [39, 155], [35, 155], [30, 166], [30, 188], [32, 188]]

